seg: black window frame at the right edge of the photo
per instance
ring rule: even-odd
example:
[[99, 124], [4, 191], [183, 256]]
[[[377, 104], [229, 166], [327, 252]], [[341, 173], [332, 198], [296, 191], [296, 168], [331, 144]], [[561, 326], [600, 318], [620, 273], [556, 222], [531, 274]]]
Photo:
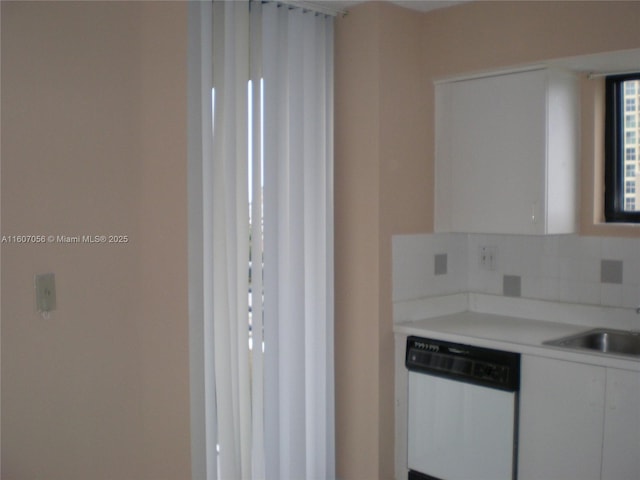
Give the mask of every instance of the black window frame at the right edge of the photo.
[[625, 211], [625, 132], [623, 82], [640, 80], [640, 72], [605, 79], [605, 198], [606, 222], [640, 223], [640, 211]]

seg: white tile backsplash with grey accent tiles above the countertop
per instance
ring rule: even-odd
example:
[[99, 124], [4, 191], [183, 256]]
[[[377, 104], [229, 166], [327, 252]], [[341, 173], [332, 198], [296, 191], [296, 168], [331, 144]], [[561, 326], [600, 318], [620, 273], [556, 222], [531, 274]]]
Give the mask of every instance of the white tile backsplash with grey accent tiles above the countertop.
[[394, 302], [460, 292], [636, 308], [640, 304], [640, 239], [462, 233], [394, 236]]

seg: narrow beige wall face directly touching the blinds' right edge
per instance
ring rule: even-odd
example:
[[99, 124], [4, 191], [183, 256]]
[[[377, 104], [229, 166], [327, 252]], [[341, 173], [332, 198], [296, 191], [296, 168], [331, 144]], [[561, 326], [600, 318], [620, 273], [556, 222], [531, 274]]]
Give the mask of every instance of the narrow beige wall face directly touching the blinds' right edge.
[[347, 18], [335, 58], [336, 468], [345, 479], [379, 471], [381, 276], [379, 15]]

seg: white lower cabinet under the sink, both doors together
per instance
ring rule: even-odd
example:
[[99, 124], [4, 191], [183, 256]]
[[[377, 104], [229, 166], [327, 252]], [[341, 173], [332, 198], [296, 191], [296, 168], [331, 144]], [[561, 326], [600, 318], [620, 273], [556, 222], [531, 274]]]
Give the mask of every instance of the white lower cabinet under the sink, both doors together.
[[519, 480], [640, 478], [640, 374], [522, 356]]

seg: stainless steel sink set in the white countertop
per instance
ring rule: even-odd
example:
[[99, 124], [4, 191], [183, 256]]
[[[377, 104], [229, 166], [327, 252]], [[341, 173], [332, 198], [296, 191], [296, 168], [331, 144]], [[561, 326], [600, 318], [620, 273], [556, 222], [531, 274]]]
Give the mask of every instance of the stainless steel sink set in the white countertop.
[[595, 328], [576, 335], [549, 340], [543, 344], [640, 357], [640, 332], [629, 330]]

